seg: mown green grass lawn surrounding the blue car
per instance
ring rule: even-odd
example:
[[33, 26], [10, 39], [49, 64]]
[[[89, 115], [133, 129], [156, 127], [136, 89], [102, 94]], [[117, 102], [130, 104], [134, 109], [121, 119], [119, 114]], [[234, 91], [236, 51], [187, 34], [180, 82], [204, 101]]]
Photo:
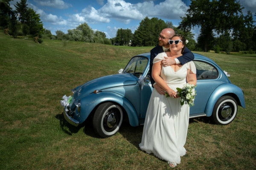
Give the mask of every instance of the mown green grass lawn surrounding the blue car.
[[[0, 31], [1, 170], [163, 170], [169, 165], [139, 149], [143, 126], [124, 122], [107, 139], [90, 123], [73, 127], [63, 119], [64, 94], [91, 79], [116, 74], [136, 54], [152, 47], [12, 39]], [[215, 125], [190, 119], [177, 170], [253, 170], [256, 167], [256, 55], [205, 55], [244, 91], [246, 108], [235, 120]]]

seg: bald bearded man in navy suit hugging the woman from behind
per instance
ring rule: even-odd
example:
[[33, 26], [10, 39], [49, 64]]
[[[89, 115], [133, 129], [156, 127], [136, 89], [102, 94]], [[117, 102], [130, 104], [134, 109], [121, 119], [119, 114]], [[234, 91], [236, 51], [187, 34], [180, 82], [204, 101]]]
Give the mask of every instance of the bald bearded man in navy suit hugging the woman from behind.
[[[168, 41], [174, 35], [175, 35], [175, 31], [172, 28], [165, 28], [159, 34], [159, 37], [158, 37], [159, 45], [157, 45], [155, 48], [153, 48], [150, 51], [150, 67], [149, 67], [150, 75], [152, 73], [152, 66], [153, 66], [154, 57], [156, 57], [157, 54], [159, 54], [159, 53], [162, 53], [162, 52], [165, 52], [165, 51], [169, 50], [169, 42]], [[170, 65], [173, 65], [173, 64], [183, 65], [186, 62], [192, 61], [193, 59], [194, 59], [194, 54], [188, 48], [185, 47], [182, 56], [177, 57], [175, 59], [169, 59], [168, 57], [165, 57], [165, 59], [163, 59], [162, 63], [163, 63], [164, 67], [170, 66]], [[152, 76], [150, 76], [150, 81], [151, 81], [152, 87], [155, 88], [159, 94], [165, 95], [165, 91], [159, 85], [157, 85], [157, 83], [154, 81]]]

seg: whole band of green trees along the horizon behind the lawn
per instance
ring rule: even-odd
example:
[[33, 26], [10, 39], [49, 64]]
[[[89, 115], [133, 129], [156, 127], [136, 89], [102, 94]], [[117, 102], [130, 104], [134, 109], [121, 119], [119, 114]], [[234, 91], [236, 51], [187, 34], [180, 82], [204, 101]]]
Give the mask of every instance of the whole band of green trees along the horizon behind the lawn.
[[[183, 34], [189, 41], [187, 47], [191, 51], [256, 51], [256, 26], [253, 14], [248, 11], [242, 14], [243, 7], [237, 0], [191, 0], [185, 17], [181, 17], [179, 26], [172, 22], [164, 22], [157, 17], [145, 17], [132, 33], [131, 29], [119, 28], [116, 37], [106, 38], [101, 31], [93, 31], [87, 23], [75, 29], [55, 31], [56, 35], [43, 28], [40, 15], [27, 7], [26, 0], [20, 0], [10, 8], [11, 0], [0, 1], [0, 26], [9, 28], [14, 37], [18, 34], [35, 34], [52, 40], [70, 40], [82, 42], [98, 42], [112, 45], [156, 46], [158, 36], [164, 28], [174, 28], [176, 34]], [[256, 15], [256, 14], [255, 14]], [[200, 34], [195, 41], [191, 30], [197, 26]]]

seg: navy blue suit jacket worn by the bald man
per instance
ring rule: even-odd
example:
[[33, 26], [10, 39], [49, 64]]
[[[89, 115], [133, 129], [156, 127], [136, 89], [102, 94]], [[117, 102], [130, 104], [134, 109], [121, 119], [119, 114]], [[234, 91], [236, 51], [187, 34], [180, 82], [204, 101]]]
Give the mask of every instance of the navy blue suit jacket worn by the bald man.
[[[152, 87], [155, 83], [154, 79], [152, 78], [152, 74], [151, 74], [152, 73], [153, 60], [154, 60], [154, 57], [156, 57], [157, 54], [159, 54], [159, 53], [163, 53], [163, 47], [159, 46], [159, 45], [157, 45], [155, 48], [153, 48], [150, 51], [149, 75], [150, 75], [150, 81], [151, 81]], [[188, 48], [185, 47], [183, 55], [178, 57], [177, 59], [180, 61], [180, 64], [183, 65], [183, 64], [185, 64], [189, 61], [192, 61], [194, 59], [194, 54]]]

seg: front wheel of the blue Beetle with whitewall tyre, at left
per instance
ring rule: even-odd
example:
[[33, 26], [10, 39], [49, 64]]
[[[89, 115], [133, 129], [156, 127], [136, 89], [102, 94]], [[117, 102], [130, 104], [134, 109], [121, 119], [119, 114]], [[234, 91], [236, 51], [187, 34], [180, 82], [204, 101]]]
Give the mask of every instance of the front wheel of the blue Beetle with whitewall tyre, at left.
[[93, 116], [93, 128], [102, 138], [113, 136], [119, 130], [123, 119], [122, 108], [112, 102], [98, 106]]

